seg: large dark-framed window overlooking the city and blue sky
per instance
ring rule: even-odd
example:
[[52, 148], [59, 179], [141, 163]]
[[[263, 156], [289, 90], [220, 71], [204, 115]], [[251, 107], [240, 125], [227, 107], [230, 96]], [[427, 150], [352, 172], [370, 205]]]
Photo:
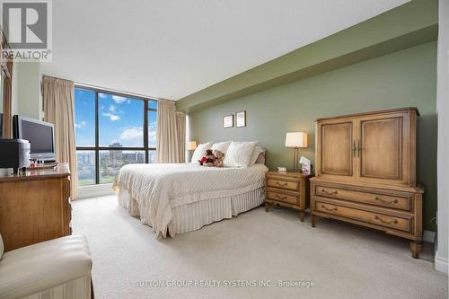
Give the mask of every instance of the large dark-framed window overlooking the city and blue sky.
[[154, 163], [157, 101], [75, 87], [80, 186], [109, 183], [128, 163]]

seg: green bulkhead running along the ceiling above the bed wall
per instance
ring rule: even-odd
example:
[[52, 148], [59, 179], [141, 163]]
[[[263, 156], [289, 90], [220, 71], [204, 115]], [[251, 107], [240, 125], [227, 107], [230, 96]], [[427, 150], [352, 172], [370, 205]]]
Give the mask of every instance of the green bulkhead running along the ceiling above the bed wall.
[[177, 109], [189, 112], [208, 101], [227, 101], [242, 94], [263, 90], [267, 85], [279, 82], [285, 84], [290, 78], [307, 76], [309, 71], [314, 74], [329, 71], [331, 66], [328, 65], [335, 59], [339, 60], [339, 64], [349, 65], [355, 60], [362, 61], [386, 54], [389, 50], [396, 51], [427, 42], [429, 39], [436, 40], [437, 6], [436, 0], [412, 0], [190, 94], [178, 101]]

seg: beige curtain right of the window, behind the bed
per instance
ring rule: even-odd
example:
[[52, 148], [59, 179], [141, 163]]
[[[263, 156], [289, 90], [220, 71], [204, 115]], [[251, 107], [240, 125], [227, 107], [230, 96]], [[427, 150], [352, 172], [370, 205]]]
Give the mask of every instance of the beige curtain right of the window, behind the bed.
[[185, 154], [185, 115], [174, 101], [157, 102], [157, 163], [182, 163]]

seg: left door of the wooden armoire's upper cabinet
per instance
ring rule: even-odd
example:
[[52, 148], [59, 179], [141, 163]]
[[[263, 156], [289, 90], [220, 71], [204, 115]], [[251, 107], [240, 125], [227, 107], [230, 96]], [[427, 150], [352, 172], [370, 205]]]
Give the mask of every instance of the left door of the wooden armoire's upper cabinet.
[[354, 180], [357, 176], [354, 136], [356, 119], [330, 119], [317, 124], [317, 175]]

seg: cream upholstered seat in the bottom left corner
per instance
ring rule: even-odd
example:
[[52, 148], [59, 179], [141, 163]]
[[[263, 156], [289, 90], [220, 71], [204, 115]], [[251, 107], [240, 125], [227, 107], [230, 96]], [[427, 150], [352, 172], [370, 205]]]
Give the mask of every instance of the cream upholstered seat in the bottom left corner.
[[0, 241], [0, 299], [91, 298], [92, 259], [84, 236], [40, 242], [2, 256], [3, 250]]

